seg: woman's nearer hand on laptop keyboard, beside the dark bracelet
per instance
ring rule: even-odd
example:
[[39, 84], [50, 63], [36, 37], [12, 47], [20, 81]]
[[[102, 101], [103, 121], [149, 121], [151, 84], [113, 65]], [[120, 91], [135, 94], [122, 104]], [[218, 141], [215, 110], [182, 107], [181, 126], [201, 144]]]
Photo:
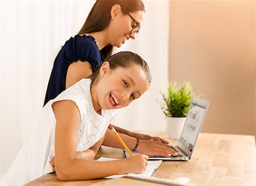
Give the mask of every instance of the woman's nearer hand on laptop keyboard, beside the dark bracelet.
[[177, 156], [180, 154], [174, 148], [159, 140], [139, 140], [136, 151], [141, 154], [147, 154], [148, 156], [170, 157], [171, 155]]

